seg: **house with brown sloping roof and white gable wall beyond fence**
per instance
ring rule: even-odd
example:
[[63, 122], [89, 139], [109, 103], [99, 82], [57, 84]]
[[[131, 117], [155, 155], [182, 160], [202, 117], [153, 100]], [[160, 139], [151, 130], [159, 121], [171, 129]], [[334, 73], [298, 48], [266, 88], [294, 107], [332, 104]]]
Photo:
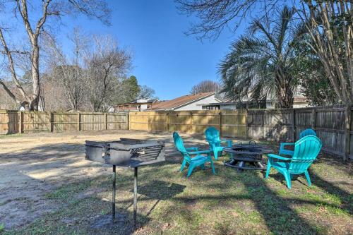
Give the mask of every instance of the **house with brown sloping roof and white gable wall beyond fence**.
[[201, 104], [219, 103], [215, 97], [215, 92], [198, 93], [195, 95], [184, 95], [177, 97], [174, 100], [167, 100], [162, 102], [155, 102], [148, 109], [149, 111], [188, 111], [188, 110], [202, 110]]

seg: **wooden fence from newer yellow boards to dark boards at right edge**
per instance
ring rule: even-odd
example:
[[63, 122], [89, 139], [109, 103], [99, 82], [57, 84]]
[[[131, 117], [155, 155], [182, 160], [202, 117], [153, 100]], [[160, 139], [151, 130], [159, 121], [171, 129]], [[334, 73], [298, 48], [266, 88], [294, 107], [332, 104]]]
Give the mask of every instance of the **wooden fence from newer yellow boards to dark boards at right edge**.
[[[224, 137], [294, 142], [313, 128], [323, 151], [353, 159], [352, 107], [301, 109], [208, 110], [181, 112], [130, 112], [129, 129], [202, 134], [215, 126]], [[351, 138], [352, 137], [352, 138]]]

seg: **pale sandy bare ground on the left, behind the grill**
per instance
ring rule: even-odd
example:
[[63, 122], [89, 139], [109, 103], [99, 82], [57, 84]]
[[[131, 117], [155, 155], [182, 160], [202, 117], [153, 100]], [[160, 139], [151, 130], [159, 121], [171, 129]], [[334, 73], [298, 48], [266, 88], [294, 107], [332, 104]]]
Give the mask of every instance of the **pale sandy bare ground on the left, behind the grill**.
[[[160, 139], [174, 152], [170, 134], [143, 131], [85, 131], [0, 136], [0, 224], [22, 227], [46, 212], [55, 211], [45, 194], [59, 186], [100, 174], [111, 167], [84, 159], [85, 140], [119, 138]], [[201, 140], [189, 138], [201, 143]]]

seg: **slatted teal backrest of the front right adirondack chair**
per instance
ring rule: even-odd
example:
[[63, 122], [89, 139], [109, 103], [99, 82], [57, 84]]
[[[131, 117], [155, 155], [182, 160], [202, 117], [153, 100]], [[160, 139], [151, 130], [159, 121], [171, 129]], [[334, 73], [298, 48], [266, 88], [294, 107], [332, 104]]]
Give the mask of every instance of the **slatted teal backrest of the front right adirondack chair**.
[[289, 171], [301, 173], [308, 169], [318, 157], [322, 147], [321, 140], [315, 135], [306, 135], [294, 145], [294, 154], [289, 164]]

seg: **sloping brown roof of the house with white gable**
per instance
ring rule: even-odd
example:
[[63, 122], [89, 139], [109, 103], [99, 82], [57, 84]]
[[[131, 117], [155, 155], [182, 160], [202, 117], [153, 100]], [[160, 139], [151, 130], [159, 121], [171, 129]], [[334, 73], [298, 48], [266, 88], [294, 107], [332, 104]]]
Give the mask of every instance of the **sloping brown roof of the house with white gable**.
[[177, 107], [181, 107], [186, 104], [190, 104], [192, 102], [202, 100], [203, 98], [209, 97], [211, 95], [215, 95], [215, 92], [198, 93], [196, 95], [183, 95], [181, 97], [175, 98], [174, 100], [155, 102], [152, 104], [152, 106], [148, 110], [176, 109]]

